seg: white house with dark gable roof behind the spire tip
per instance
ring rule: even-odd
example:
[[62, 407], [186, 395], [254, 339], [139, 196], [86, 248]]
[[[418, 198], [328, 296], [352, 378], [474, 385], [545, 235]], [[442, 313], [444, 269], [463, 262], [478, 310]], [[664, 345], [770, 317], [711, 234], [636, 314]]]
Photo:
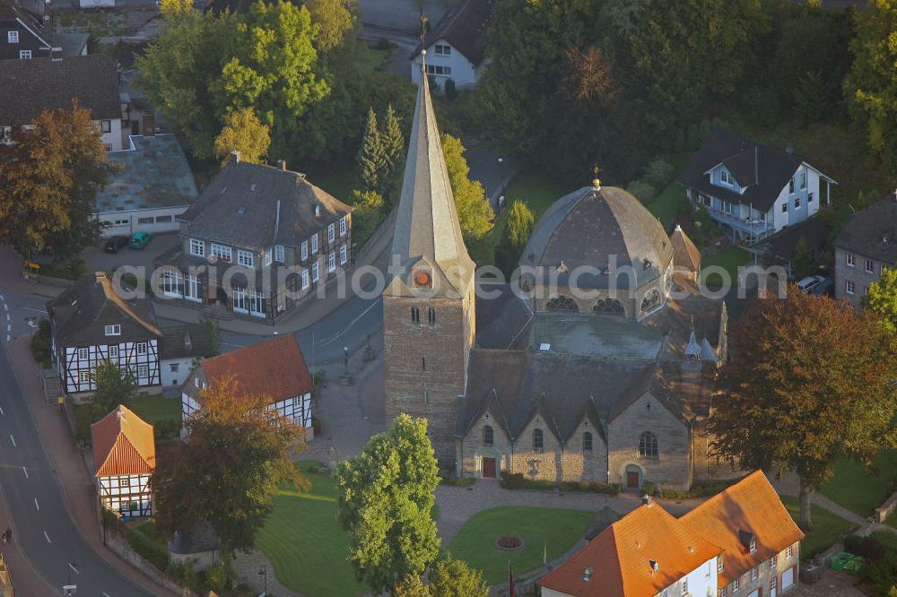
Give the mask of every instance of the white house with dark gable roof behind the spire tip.
[[479, 82], [490, 62], [486, 58], [486, 33], [493, 4], [493, 0], [464, 0], [448, 11], [411, 54], [412, 82], [421, 82], [423, 50], [427, 74], [440, 88], [444, 89], [448, 81], [455, 82], [457, 89]]

